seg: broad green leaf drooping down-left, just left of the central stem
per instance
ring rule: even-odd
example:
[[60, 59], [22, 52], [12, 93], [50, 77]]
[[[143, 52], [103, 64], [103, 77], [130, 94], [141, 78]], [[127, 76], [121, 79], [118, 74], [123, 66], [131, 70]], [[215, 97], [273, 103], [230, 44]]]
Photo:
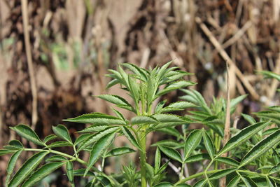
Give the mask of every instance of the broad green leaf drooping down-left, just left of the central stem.
[[94, 144], [94, 146], [92, 147], [92, 151], [90, 151], [90, 158], [88, 160], [87, 169], [85, 170], [84, 176], [94, 165], [94, 163], [97, 162], [98, 158], [102, 155], [102, 153], [104, 153], [106, 148], [108, 148], [108, 146], [111, 144], [111, 141], [115, 137], [115, 134], [115, 132], [106, 134]]

